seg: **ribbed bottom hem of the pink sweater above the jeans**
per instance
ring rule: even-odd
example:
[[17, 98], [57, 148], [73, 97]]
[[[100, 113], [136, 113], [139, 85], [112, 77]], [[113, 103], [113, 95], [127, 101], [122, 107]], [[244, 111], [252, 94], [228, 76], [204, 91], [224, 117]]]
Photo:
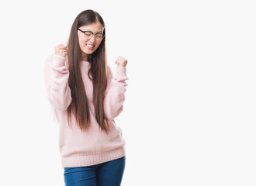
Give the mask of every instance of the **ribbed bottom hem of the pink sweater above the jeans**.
[[116, 160], [125, 156], [124, 147], [111, 150], [106, 153], [99, 153], [81, 157], [62, 157], [62, 167], [85, 167], [95, 164], [102, 164], [110, 160]]

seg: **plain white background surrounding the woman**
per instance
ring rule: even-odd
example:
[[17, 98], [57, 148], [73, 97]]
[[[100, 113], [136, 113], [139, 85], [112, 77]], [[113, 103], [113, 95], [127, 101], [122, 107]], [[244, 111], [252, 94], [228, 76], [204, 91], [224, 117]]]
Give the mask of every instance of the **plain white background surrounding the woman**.
[[128, 58], [123, 186], [256, 185], [254, 1], [8, 1], [0, 5], [0, 185], [64, 185], [44, 60], [85, 9]]

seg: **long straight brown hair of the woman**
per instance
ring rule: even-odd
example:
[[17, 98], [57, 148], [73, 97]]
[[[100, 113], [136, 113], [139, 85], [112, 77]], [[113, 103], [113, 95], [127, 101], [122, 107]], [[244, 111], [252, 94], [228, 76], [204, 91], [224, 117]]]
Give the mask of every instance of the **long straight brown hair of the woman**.
[[[68, 53], [68, 84], [71, 88], [71, 105], [67, 108], [69, 124], [71, 124], [71, 112], [74, 113], [75, 119], [82, 130], [90, 126], [90, 111], [85, 94], [85, 86], [81, 76], [81, 49], [78, 42], [78, 28], [99, 21], [103, 26], [103, 34], [106, 34], [104, 21], [98, 12], [85, 10], [81, 12], [73, 22], [71, 33], [67, 43]], [[99, 48], [94, 53], [88, 55], [88, 62], [91, 68], [88, 71], [93, 84], [93, 104], [95, 106], [95, 118], [102, 130], [108, 132], [109, 120], [104, 112], [104, 98], [107, 84], [107, 65], [106, 65], [106, 47], [105, 37]]]

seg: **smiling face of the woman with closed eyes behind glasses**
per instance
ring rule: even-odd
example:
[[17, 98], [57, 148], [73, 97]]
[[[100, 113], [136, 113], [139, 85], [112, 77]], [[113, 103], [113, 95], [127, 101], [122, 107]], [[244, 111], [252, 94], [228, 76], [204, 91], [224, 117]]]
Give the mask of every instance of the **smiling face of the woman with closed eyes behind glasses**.
[[[81, 49], [81, 60], [88, 60], [88, 55], [92, 54], [99, 48], [100, 43], [100, 36], [103, 33], [103, 26], [99, 21], [96, 21], [87, 26], [79, 27], [82, 31], [90, 31], [87, 33], [82, 33], [78, 30], [78, 40], [79, 46]], [[90, 38], [90, 34], [92, 34], [92, 38]], [[95, 35], [96, 34], [96, 35]]]

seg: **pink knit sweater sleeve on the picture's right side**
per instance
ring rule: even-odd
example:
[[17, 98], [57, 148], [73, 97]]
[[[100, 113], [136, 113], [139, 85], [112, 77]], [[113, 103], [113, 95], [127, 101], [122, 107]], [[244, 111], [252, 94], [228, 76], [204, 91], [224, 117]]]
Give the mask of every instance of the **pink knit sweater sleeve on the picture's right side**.
[[123, 110], [124, 93], [126, 91], [126, 67], [117, 67], [116, 76], [112, 77], [108, 67], [108, 84], [104, 100], [104, 111], [108, 119], [114, 119]]

